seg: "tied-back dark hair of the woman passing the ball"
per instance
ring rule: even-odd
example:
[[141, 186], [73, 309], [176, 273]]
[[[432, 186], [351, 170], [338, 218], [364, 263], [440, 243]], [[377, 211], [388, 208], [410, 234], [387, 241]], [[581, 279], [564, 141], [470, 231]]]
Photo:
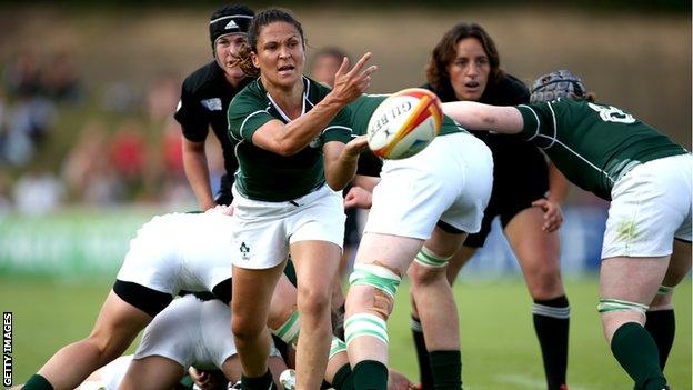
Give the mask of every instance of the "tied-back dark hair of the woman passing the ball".
[[301, 37], [301, 44], [305, 47], [305, 38], [303, 37], [303, 27], [301, 23], [291, 14], [289, 10], [282, 8], [270, 8], [263, 11], [260, 11], [250, 22], [250, 27], [248, 28], [248, 46], [241, 48], [239, 51], [239, 67], [243, 71], [243, 73], [252, 77], [260, 76], [260, 69], [255, 68], [250, 60], [251, 52], [258, 52], [258, 37], [260, 36], [260, 30], [271, 23], [274, 22], [287, 22], [289, 24], [293, 24], [295, 29], [299, 31], [299, 36]]

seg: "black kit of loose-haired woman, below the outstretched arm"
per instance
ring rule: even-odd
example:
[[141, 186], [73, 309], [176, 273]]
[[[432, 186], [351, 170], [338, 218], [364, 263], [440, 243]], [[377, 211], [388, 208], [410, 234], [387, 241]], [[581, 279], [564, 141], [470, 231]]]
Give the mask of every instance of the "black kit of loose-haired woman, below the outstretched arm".
[[485, 140], [493, 153], [493, 190], [484, 210], [481, 231], [470, 234], [465, 247], [481, 248], [491, 232], [491, 222], [499, 216], [505, 226], [532, 202], [549, 192], [549, 167], [536, 147], [522, 140]]

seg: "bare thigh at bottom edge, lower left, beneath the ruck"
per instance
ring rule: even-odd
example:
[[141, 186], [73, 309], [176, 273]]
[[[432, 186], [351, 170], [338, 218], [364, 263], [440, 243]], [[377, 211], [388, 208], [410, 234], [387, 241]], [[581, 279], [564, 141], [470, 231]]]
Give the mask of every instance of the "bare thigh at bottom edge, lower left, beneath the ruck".
[[151, 356], [132, 360], [120, 390], [169, 390], [185, 373], [184, 368], [171, 359]]

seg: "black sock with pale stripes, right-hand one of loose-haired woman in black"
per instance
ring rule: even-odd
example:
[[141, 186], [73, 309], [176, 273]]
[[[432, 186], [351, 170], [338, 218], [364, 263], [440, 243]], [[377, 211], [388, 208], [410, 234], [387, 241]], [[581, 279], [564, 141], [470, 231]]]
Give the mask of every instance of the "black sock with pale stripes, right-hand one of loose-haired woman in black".
[[568, 369], [568, 332], [570, 306], [565, 296], [548, 300], [534, 300], [532, 304], [534, 331], [539, 339], [549, 390], [565, 384]]

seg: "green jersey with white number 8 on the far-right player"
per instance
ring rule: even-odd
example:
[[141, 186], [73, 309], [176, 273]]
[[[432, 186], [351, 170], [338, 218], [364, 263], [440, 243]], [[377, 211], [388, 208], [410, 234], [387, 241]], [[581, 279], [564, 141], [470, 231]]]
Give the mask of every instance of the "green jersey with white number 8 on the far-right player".
[[687, 151], [654, 128], [612, 106], [556, 99], [518, 106], [522, 134], [565, 177], [611, 200], [613, 184], [633, 167]]

